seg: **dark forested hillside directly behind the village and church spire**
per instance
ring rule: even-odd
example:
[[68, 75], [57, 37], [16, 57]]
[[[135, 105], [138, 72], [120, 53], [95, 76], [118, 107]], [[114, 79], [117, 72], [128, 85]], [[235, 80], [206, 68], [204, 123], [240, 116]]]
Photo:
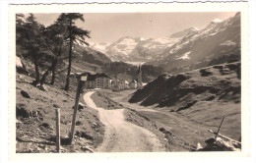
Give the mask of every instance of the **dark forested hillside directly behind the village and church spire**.
[[[104, 53], [91, 47], [76, 45], [73, 49], [73, 72], [105, 73], [112, 79], [132, 81], [137, 78], [138, 67], [125, 62], [112, 62]], [[163, 73], [159, 67], [143, 65], [143, 81], [153, 81]]]

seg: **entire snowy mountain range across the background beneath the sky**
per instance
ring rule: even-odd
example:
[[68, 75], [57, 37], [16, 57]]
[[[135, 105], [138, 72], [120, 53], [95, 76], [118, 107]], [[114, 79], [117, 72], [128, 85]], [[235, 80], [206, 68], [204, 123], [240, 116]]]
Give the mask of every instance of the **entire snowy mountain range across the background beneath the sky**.
[[224, 62], [240, 60], [240, 14], [207, 27], [196, 27], [166, 37], [125, 36], [106, 44], [93, 44], [112, 61], [142, 62], [178, 73]]

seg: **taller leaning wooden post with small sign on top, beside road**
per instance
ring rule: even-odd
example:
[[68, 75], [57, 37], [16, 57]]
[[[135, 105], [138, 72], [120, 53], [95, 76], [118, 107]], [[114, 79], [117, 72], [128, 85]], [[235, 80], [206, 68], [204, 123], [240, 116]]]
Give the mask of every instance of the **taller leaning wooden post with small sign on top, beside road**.
[[80, 88], [81, 88], [81, 76], [78, 76], [78, 86], [77, 86], [77, 93], [76, 93], [76, 100], [75, 100], [75, 108], [73, 111], [73, 119], [72, 119], [72, 125], [71, 125], [71, 132], [70, 132], [70, 144], [72, 144], [72, 140], [75, 134], [75, 127], [76, 127], [76, 117], [77, 117], [77, 111], [78, 111], [78, 104], [79, 104], [79, 97], [80, 97]]

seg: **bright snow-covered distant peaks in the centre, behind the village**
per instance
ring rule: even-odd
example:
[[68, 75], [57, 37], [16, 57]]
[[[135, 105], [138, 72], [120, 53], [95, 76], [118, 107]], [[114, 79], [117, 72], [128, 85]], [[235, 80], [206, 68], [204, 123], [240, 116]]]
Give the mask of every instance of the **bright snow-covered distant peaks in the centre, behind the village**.
[[197, 33], [196, 27], [190, 27], [170, 36], [160, 38], [121, 37], [105, 46], [105, 54], [113, 61], [149, 62], [160, 57], [165, 49], [171, 47], [182, 37]]

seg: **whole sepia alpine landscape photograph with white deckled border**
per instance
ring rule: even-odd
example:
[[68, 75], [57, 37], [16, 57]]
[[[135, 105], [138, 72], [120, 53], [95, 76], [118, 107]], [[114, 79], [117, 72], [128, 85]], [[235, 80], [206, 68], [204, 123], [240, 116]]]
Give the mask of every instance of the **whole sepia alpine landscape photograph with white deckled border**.
[[246, 155], [243, 5], [10, 10], [12, 154]]

